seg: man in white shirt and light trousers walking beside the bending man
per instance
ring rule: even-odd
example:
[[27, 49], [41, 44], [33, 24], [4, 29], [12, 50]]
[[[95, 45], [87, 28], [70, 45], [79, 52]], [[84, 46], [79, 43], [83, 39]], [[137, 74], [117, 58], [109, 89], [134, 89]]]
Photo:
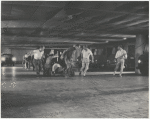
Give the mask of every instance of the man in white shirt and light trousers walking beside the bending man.
[[84, 45], [82, 53], [81, 53], [82, 67], [80, 69], [79, 75], [81, 75], [82, 72], [83, 72], [83, 76], [86, 75], [86, 72], [89, 69], [89, 63], [90, 63], [89, 57], [90, 56], [92, 56], [92, 63], [93, 63], [94, 62], [93, 53], [91, 52], [90, 49], [87, 48], [86, 45]]

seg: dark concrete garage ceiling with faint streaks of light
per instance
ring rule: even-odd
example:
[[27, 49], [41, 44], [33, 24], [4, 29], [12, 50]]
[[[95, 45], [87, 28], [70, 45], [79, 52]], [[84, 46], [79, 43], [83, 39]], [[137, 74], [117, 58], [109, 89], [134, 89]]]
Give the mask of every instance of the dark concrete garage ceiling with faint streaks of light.
[[1, 2], [1, 43], [11, 48], [132, 40], [148, 30], [148, 1]]

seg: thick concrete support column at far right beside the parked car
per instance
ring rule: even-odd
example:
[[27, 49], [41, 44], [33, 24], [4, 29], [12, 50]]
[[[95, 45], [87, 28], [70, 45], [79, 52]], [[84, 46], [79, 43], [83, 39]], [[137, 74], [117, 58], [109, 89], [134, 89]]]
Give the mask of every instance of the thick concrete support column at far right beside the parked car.
[[138, 34], [136, 35], [135, 43], [135, 73], [140, 74], [140, 71], [136, 69], [138, 66], [138, 57], [143, 54], [145, 45], [148, 44], [148, 35]]

